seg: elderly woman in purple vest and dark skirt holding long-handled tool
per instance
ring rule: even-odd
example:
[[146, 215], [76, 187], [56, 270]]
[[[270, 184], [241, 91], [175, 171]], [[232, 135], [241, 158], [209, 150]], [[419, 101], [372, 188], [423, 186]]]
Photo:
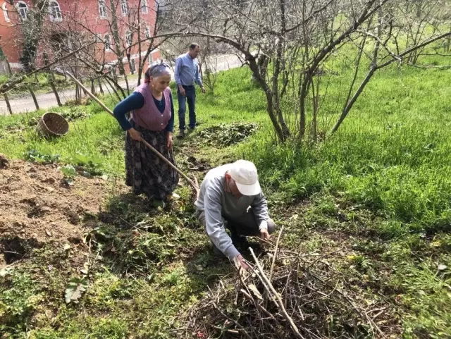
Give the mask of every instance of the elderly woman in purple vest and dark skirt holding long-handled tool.
[[[144, 84], [121, 101], [113, 113], [125, 137], [125, 185], [133, 187], [133, 193], [144, 193], [149, 199], [164, 201], [171, 195], [178, 183], [178, 173], [159, 159], [140, 142], [149, 142], [173, 165], [172, 151], [174, 128], [174, 105], [169, 67], [159, 63], [145, 73]], [[125, 114], [132, 112], [130, 120]]]

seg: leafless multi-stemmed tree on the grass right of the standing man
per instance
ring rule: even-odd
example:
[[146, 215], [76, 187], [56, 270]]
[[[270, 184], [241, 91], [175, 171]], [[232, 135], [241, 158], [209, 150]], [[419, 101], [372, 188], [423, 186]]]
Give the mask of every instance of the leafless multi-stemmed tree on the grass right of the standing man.
[[[401, 14], [411, 13], [415, 6], [395, 0], [198, 0], [174, 3], [171, 20], [172, 25], [185, 27], [184, 37], [210, 38], [242, 54], [264, 91], [280, 140], [307, 135], [317, 140], [325, 134], [319, 130], [321, 115], [340, 112], [322, 109], [335, 75], [328, 70], [329, 61], [347, 53], [352, 57], [341, 57], [340, 62], [354, 67], [340, 86], [338, 99], [345, 102], [334, 132], [377, 70], [394, 62], [416, 63], [421, 51], [450, 37], [446, 21], [436, 16], [440, 4], [416, 2], [419, 14], [408, 16], [415, 22], [413, 35], [405, 29], [407, 19]], [[199, 10], [189, 11], [187, 6]], [[404, 48], [393, 49], [400, 42], [405, 42]], [[369, 71], [362, 79], [365, 68]]]

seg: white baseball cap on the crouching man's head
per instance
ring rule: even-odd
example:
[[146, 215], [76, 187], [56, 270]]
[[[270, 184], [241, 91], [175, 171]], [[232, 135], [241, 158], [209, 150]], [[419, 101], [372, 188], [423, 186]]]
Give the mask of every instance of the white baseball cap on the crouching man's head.
[[229, 174], [235, 180], [242, 195], [258, 195], [261, 192], [257, 168], [252, 162], [247, 160], [235, 161]]

